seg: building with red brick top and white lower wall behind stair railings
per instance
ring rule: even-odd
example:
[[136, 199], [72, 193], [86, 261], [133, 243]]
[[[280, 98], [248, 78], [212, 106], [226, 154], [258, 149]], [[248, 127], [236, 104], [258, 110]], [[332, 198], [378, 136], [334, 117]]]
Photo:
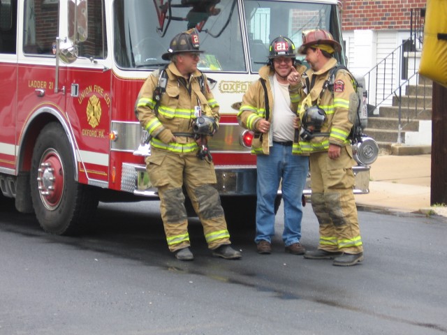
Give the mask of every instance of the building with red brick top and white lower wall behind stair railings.
[[[418, 82], [415, 73], [422, 50], [422, 38], [418, 37], [423, 35], [408, 39], [412, 24], [413, 34], [416, 28], [423, 30], [422, 9], [427, 0], [341, 1], [347, 65], [353, 73], [365, 77], [368, 102], [379, 105], [373, 112], [379, 115], [381, 107], [395, 105], [393, 96], [400, 94], [400, 87], [404, 91], [407, 84]], [[408, 144], [430, 144], [431, 121], [419, 121], [418, 131], [407, 131], [405, 136]]]

